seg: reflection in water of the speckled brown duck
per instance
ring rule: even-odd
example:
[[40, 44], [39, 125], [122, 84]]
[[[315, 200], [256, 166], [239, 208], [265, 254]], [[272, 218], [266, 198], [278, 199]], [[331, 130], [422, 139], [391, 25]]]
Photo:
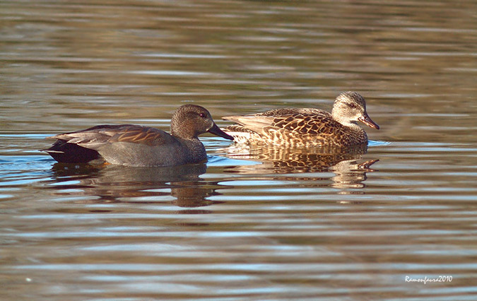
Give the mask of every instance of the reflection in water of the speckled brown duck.
[[[231, 167], [227, 172], [248, 174], [304, 174], [303, 177], [279, 177], [279, 179], [304, 180], [302, 187], [334, 187], [338, 189], [359, 189], [365, 187], [367, 172], [375, 172], [371, 165], [379, 160], [362, 160], [367, 145], [353, 148], [308, 147], [288, 148], [282, 146], [232, 145], [226, 148], [229, 158], [257, 160], [259, 165]], [[359, 162], [358, 162], [359, 161]], [[335, 174], [331, 177], [324, 172]], [[317, 175], [317, 173], [323, 175]], [[306, 174], [306, 175], [305, 175]], [[310, 184], [310, 180], [313, 181]], [[361, 191], [341, 191], [341, 194], [360, 194]]]

